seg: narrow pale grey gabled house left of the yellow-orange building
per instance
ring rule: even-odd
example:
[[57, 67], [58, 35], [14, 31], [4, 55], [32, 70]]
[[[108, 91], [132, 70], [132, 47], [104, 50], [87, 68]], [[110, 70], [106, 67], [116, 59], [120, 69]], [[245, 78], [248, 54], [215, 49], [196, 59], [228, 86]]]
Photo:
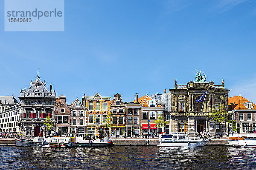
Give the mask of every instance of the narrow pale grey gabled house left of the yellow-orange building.
[[86, 133], [86, 118], [86, 107], [84, 107], [80, 100], [76, 98], [76, 100], [70, 106], [70, 132]]

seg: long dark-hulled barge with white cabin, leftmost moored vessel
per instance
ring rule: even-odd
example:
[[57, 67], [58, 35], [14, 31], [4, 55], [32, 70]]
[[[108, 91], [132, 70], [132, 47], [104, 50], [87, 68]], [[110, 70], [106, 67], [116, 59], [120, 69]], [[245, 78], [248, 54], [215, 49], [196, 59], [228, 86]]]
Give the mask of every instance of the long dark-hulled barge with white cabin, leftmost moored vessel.
[[[44, 142], [45, 141], [45, 142]], [[68, 144], [70, 143], [70, 139], [67, 137], [42, 137], [37, 136], [34, 139], [26, 138], [26, 139], [18, 139], [15, 138], [15, 145], [17, 147], [41, 147], [43, 143], [46, 144]]]

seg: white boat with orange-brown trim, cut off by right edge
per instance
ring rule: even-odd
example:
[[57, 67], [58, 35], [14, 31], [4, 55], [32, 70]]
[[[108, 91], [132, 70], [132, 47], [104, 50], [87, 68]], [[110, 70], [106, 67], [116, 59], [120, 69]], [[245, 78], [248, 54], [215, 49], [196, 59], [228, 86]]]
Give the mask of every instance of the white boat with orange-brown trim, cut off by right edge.
[[228, 144], [237, 147], [256, 147], [256, 133], [236, 133], [230, 131]]

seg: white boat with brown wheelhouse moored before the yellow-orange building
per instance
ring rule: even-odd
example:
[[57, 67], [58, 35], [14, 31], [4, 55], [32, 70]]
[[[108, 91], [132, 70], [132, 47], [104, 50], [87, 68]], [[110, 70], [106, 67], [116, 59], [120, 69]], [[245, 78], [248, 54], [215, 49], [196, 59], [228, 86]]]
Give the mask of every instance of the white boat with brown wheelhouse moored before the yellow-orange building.
[[67, 133], [70, 138], [72, 147], [99, 147], [99, 146], [111, 146], [113, 142], [107, 137], [96, 138], [90, 133]]

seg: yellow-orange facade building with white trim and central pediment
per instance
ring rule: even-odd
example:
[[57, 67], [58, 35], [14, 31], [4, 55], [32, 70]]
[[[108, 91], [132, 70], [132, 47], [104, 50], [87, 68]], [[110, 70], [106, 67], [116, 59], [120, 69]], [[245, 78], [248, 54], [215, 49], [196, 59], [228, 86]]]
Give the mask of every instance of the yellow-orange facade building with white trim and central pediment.
[[87, 108], [87, 133], [102, 137], [108, 134], [109, 127], [105, 127], [107, 115], [110, 111], [111, 97], [101, 96], [99, 93], [94, 96], [84, 96], [83, 105]]

